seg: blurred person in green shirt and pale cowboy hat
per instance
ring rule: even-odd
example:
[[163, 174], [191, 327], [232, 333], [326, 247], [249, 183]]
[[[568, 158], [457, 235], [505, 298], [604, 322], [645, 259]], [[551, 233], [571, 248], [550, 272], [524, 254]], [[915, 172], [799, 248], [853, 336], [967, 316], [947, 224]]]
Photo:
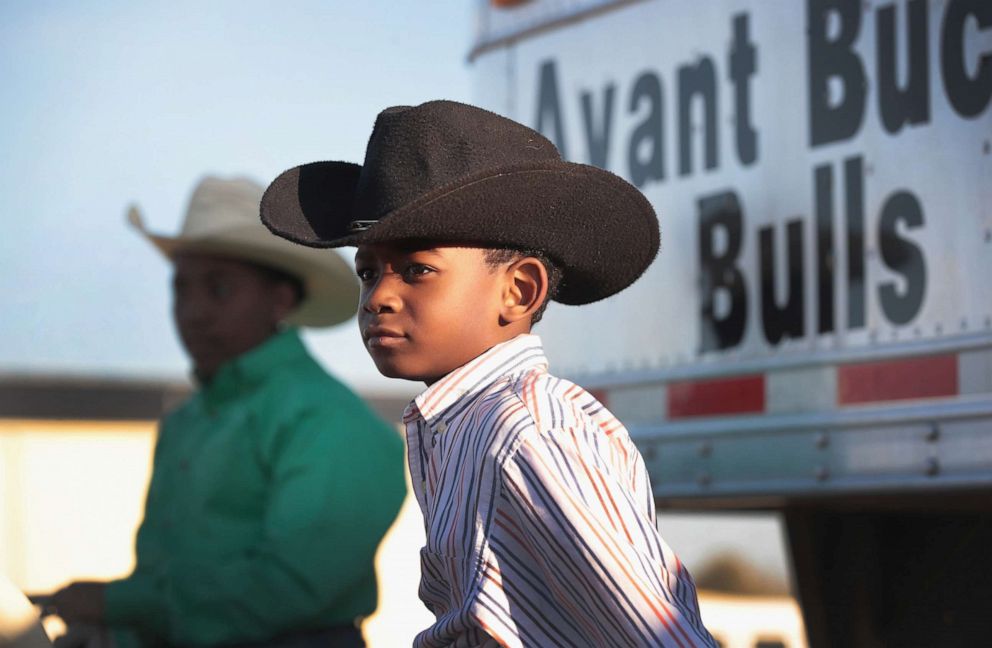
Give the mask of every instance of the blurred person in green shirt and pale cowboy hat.
[[295, 325], [354, 312], [347, 264], [270, 234], [261, 188], [207, 178], [177, 237], [173, 314], [198, 389], [162, 422], [137, 565], [57, 592], [126, 645], [361, 646], [373, 557], [404, 496], [403, 444]]

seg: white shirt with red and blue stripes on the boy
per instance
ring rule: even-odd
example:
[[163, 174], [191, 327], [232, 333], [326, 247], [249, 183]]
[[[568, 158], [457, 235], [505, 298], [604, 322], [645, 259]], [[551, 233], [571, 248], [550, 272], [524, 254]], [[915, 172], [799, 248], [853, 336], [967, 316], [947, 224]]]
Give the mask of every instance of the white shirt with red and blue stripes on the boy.
[[547, 366], [521, 335], [407, 407], [436, 617], [414, 646], [715, 646], [627, 430]]

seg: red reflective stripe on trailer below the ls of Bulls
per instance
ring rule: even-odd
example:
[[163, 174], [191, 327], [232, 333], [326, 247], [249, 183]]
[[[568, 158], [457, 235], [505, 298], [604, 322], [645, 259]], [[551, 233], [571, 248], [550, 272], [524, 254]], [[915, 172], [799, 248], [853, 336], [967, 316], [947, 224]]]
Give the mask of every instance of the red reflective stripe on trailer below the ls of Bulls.
[[956, 354], [865, 362], [837, 368], [837, 402], [841, 405], [954, 396], [957, 393]]

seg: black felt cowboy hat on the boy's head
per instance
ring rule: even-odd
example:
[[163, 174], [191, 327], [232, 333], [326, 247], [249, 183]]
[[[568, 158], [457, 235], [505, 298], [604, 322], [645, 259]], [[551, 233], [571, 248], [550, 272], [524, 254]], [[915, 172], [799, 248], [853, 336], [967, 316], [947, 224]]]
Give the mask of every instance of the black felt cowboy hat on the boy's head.
[[262, 222], [310, 247], [425, 240], [540, 250], [563, 271], [555, 301], [632, 284], [658, 252], [651, 203], [623, 179], [561, 159], [540, 133], [452, 101], [379, 113], [365, 165], [314, 162], [276, 178]]

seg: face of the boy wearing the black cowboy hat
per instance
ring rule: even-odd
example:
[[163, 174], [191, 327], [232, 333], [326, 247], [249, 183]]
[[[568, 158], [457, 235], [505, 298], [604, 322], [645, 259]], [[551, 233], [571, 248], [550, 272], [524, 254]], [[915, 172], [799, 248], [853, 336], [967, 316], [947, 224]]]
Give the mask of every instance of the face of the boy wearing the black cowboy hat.
[[362, 245], [355, 269], [362, 340], [384, 376], [430, 384], [516, 334], [482, 249]]

